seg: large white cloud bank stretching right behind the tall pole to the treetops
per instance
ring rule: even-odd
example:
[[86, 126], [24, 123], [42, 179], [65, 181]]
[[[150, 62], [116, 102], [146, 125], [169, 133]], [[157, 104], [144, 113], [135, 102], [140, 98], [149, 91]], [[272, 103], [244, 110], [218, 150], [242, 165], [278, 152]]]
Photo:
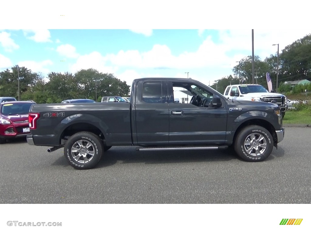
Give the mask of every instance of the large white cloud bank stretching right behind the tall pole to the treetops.
[[[254, 30], [254, 51], [261, 59], [276, 53], [273, 43], [280, 43], [281, 49], [294, 40], [308, 34], [308, 30]], [[195, 52], [183, 52], [173, 55], [166, 45], [156, 44], [150, 51], [138, 50], [119, 51], [117, 54], [108, 54], [107, 60], [113, 65], [156, 68], [168, 67], [175, 69], [190, 69], [203, 67], [227, 67], [231, 69], [236, 61], [252, 55], [252, 31], [251, 30], [219, 30], [219, 40], [211, 35], [203, 41]], [[229, 74], [228, 74], [229, 75]]]

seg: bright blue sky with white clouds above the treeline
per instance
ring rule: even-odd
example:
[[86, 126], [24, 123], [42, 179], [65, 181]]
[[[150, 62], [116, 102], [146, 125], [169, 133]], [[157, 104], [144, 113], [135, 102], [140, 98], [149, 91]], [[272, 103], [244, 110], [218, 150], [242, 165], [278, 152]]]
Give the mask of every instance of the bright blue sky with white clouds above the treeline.
[[[185, 5], [182, 7], [188, 9]], [[53, 9], [45, 12], [47, 19], [52, 11]], [[55, 25], [53, 21], [40, 24], [39, 17], [35, 21], [26, 18], [17, 23], [13, 19], [6, 20], [1, 25], [3, 29], [0, 29], [0, 71], [18, 65], [47, 76], [52, 71], [75, 73], [80, 69], [94, 68], [103, 73], [113, 73], [128, 85], [132, 84], [132, 80], [143, 77], [189, 77], [212, 85], [215, 80], [233, 75], [232, 69], [238, 64], [237, 61], [252, 55], [252, 25], [247, 25], [245, 20], [241, 27], [243, 29], [227, 29], [232, 25], [219, 21], [206, 25], [202, 24], [202, 21], [192, 21], [192, 24], [188, 25], [188, 21], [182, 21], [185, 17], [181, 17], [180, 14], [176, 15], [179, 22], [175, 22], [175, 27], [169, 26], [170, 22], [175, 20], [174, 16], [170, 21], [163, 21], [163, 16], [158, 16], [162, 21], [155, 23], [151, 20], [150, 24], [145, 25], [141, 25], [144, 21], [141, 18], [138, 23], [136, 21], [136, 24], [133, 22], [128, 25], [128, 21], [134, 18], [134, 14], [130, 14], [130, 19], [127, 16], [119, 19], [114, 15], [113, 19], [120, 21], [109, 22], [104, 28], [102, 23], [105, 20], [101, 17], [96, 21], [100, 22], [99, 24], [90, 18], [86, 22], [91, 23], [87, 24], [82, 22], [81, 16], [70, 13], [68, 9], [58, 12], [63, 12], [59, 13], [63, 15], [57, 16], [58, 21], [55, 21]], [[156, 11], [152, 12], [154, 14]], [[154, 18], [152, 12], [149, 19]], [[38, 12], [36, 14], [38, 15]], [[55, 15], [53, 17], [56, 17]], [[189, 15], [191, 16], [191, 13]], [[192, 17], [195, 16], [194, 12]], [[207, 19], [213, 17], [214, 15]], [[239, 20], [238, 17], [235, 19]], [[64, 24], [61, 24], [61, 20]], [[73, 20], [76, 24], [72, 24]], [[269, 25], [269, 21], [263, 21], [264, 23]], [[272, 44], [279, 43], [281, 53], [285, 46], [311, 33], [311, 29], [303, 25], [300, 25], [300, 28], [292, 26], [291, 29], [273, 28], [274, 26], [271, 28], [270, 24], [269, 29], [263, 27], [263, 24], [256, 21], [254, 26], [261, 29], [253, 27], [254, 54], [261, 59], [276, 54], [277, 46]], [[126, 27], [122, 25], [147, 29], [123, 29]], [[183, 29], [183, 25], [184, 28], [191, 29]], [[20, 29], [23, 26], [36, 29]], [[163, 29], [148, 29], [161, 27]], [[197, 29], [217, 27], [220, 29]]]

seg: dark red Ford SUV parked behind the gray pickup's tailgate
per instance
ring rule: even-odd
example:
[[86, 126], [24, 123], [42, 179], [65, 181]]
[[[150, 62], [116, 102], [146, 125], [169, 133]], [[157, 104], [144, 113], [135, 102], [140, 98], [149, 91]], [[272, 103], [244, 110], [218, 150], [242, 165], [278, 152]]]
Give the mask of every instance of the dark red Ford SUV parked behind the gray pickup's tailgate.
[[0, 105], [0, 143], [30, 134], [28, 113], [33, 101], [12, 101]]

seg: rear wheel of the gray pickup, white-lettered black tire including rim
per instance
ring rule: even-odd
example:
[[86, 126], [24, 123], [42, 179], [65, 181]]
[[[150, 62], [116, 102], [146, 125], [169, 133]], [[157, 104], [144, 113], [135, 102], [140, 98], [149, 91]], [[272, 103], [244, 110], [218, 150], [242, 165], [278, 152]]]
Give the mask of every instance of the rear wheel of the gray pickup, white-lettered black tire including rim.
[[[72, 151], [72, 148], [76, 148], [77, 151]], [[100, 161], [104, 153], [104, 146], [97, 135], [91, 132], [79, 132], [67, 140], [64, 152], [67, 162], [72, 167], [91, 169]]]

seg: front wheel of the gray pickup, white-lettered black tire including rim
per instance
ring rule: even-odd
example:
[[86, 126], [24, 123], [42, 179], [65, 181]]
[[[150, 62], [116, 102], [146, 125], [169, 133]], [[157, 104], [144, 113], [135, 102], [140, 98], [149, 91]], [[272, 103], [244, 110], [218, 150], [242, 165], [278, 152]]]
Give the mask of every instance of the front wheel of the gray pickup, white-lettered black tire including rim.
[[[255, 140], [251, 139], [252, 137], [255, 138]], [[266, 148], [260, 146], [263, 144], [266, 144]], [[273, 150], [272, 135], [267, 129], [261, 126], [246, 126], [239, 131], [234, 142], [234, 150], [238, 156], [245, 161], [263, 161], [269, 157]]]

